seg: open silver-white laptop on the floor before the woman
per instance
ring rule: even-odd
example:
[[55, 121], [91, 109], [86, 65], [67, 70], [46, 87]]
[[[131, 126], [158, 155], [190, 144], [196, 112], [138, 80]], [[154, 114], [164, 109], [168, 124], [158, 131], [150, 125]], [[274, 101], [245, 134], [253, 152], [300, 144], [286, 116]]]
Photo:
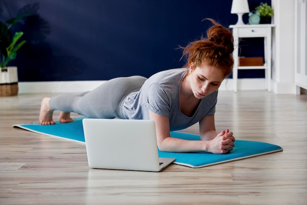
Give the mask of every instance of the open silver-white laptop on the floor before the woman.
[[82, 120], [90, 168], [159, 172], [174, 158], [159, 158], [152, 120]]

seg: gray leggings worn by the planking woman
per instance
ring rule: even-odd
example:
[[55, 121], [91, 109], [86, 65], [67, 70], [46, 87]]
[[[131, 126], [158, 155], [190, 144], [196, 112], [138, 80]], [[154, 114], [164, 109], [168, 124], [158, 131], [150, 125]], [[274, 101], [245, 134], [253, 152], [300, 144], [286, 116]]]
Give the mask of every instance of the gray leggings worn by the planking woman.
[[52, 110], [75, 112], [89, 118], [123, 118], [122, 104], [126, 97], [140, 90], [146, 77], [117, 77], [110, 79], [92, 91], [61, 94], [50, 99]]

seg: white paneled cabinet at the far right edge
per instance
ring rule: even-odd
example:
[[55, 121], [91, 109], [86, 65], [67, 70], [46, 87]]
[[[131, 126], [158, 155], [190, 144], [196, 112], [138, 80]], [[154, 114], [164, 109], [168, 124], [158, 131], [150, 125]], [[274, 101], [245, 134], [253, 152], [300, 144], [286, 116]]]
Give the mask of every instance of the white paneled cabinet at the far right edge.
[[307, 0], [295, 1], [295, 85], [296, 94], [307, 89]]

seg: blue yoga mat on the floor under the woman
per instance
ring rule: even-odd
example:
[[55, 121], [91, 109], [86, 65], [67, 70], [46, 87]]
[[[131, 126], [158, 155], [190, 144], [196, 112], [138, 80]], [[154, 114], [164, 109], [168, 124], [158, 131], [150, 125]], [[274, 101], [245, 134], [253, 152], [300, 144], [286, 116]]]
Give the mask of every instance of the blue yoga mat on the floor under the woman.
[[[23, 128], [32, 132], [61, 137], [63, 139], [73, 140], [84, 143], [84, 133], [82, 126], [82, 119], [75, 118], [72, 123], [58, 123], [55, 125], [41, 126], [39, 123], [31, 124], [17, 124], [13, 125], [15, 128]], [[201, 140], [199, 135], [187, 134], [181, 132], [171, 132], [172, 137], [187, 140]], [[282, 151], [282, 148], [277, 145], [236, 140], [233, 151], [229, 154], [211, 154], [211, 153], [167, 153], [159, 151], [159, 157], [176, 158], [175, 164], [184, 165], [192, 168], [200, 168], [234, 160], [250, 158], [263, 154], [270, 154]]]

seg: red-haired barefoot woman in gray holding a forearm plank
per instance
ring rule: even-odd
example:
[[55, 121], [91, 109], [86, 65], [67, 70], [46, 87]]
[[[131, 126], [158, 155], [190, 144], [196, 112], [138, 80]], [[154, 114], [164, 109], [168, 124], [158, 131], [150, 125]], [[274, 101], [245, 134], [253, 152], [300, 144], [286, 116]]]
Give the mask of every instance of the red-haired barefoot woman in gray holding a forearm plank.
[[[217, 133], [214, 113], [218, 88], [233, 67], [231, 32], [209, 19], [214, 26], [207, 38], [183, 49], [188, 57], [184, 68], [154, 74], [108, 80], [93, 91], [78, 96], [62, 94], [44, 98], [40, 123], [51, 125], [54, 110], [59, 122], [69, 123], [70, 112], [89, 118], [151, 119], [155, 122], [158, 148], [164, 152], [229, 153], [235, 138], [228, 129]], [[201, 141], [171, 137], [170, 131], [199, 122]]]

